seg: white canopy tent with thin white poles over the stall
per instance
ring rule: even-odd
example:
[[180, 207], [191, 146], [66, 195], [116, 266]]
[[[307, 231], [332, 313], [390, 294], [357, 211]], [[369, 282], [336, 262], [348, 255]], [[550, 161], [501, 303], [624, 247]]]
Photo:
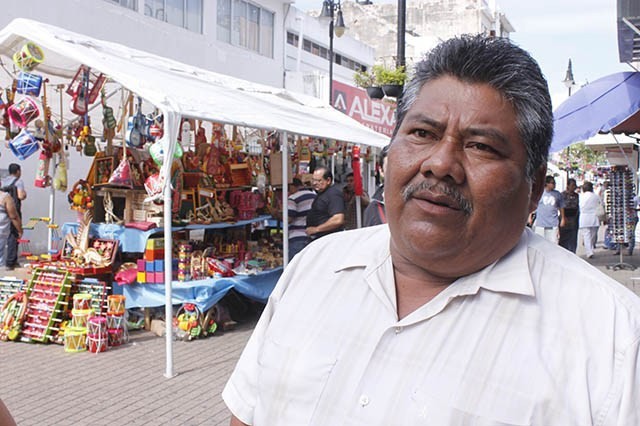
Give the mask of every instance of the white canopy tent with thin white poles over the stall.
[[[0, 31], [0, 55], [10, 58], [27, 42], [39, 45], [45, 60], [34, 71], [71, 79], [84, 64], [102, 72], [123, 87], [156, 106], [164, 116], [165, 158], [172, 158], [182, 117], [235, 124], [303, 136], [335, 139], [382, 148], [388, 137], [376, 133], [320, 100], [284, 89], [250, 83], [177, 61], [162, 58], [121, 44], [97, 40], [52, 25], [15, 19]], [[287, 143], [283, 163], [287, 161]], [[287, 167], [284, 163], [283, 173]], [[171, 205], [170, 162], [161, 173], [165, 177], [165, 205]], [[283, 176], [287, 182], [287, 176]], [[286, 185], [283, 197], [287, 198]], [[165, 208], [165, 305], [167, 318], [166, 377], [172, 377], [171, 304], [171, 209]], [[285, 256], [287, 210], [284, 209]]]

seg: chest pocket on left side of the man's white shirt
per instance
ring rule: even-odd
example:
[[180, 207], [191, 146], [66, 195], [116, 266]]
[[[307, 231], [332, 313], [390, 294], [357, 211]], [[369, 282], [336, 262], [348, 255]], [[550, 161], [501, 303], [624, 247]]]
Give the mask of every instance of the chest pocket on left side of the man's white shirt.
[[311, 423], [331, 372], [335, 355], [265, 339], [258, 357], [256, 419], [265, 425]]

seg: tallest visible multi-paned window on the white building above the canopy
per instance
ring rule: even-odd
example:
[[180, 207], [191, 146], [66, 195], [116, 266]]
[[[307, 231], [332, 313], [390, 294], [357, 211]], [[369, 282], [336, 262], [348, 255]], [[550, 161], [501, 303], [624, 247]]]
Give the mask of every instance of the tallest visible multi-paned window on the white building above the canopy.
[[273, 57], [274, 14], [245, 0], [218, 0], [218, 40]]

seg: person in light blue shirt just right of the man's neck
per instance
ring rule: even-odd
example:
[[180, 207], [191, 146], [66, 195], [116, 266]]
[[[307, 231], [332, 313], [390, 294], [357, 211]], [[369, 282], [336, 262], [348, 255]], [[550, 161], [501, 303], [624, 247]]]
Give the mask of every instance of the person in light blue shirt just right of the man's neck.
[[[536, 219], [533, 228], [536, 234], [558, 244], [559, 228], [564, 226], [564, 201], [562, 194], [556, 191], [556, 180], [553, 176], [545, 178], [544, 192], [538, 202]], [[532, 222], [529, 216], [529, 222]]]

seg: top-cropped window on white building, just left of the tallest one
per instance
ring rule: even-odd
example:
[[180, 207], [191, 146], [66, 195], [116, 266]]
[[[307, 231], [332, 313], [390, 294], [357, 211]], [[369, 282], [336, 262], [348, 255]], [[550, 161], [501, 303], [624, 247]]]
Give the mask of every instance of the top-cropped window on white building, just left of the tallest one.
[[202, 33], [202, 0], [144, 0], [144, 14]]

